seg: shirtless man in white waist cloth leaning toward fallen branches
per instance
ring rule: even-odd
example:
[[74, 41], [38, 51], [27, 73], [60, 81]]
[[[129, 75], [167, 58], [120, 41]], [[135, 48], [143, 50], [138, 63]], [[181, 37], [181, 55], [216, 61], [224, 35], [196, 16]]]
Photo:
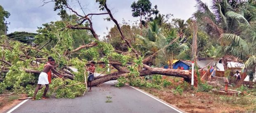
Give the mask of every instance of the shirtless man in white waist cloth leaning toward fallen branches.
[[39, 78], [38, 78], [38, 84], [36, 86], [36, 90], [34, 92], [34, 95], [33, 95], [33, 99], [32, 100], [35, 100], [36, 99], [36, 94], [40, 88], [41, 85], [45, 84], [45, 92], [43, 93], [43, 97], [42, 99], [47, 99], [45, 97], [46, 95], [46, 92], [49, 88], [49, 81], [48, 81], [48, 75], [47, 73], [49, 71], [52, 71], [54, 74], [58, 75], [60, 78], [62, 78], [62, 74], [60, 74], [59, 72], [57, 72], [52, 65], [55, 64], [55, 60], [54, 59], [51, 59], [50, 60], [50, 64], [49, 65], [46, 65], [45, 68], [43, 69], [43, 71], [41, 72], [41, 74], [39, 75]]

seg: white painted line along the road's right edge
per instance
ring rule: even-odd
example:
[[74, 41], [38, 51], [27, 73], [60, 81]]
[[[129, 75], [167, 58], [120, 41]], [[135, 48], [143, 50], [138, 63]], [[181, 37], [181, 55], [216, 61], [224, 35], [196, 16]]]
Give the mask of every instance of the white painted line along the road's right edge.
[[[130, 86], [130, 85], [128, 85], [128, 86]], [[137, 90], [137, 91], [139, 91], [139, 92], [142, 92], [143, 94], [145, 94], [145, 95], [147, 95], [147, 96], [149, 96], [149, 97], [151, 97], [151, 98], [153, 98], [153, 99], [155, 99], [155, 100], [157, 100], [157, 101], [159, 101], [159, 102], [161, 102], [162, 104], [168, 106], [169, 108], [174, 109], [175, 111], [177, 111], [177, 112], [179, 112], [179, 113], [185, 113], [185, 112], [183, 112], [182, 110], [179, 110], [178, 108], [172, 106], [171, 104], [168, 104], [168, 103], [166, 103], [165, 101], [159, 99], [158, 97], [155, 97], [154, 95], [151, 95], [151, 94], [149, 94], [149, 93], [147, 93], [147, 92], [145, 92], [145, 91], [143, 91], [143, 90], [137, 89], [137, 88], [135, 88], [135, 87], [133, 87], [133, 86], [130, 86], [130, 87], [133, 88], [133, 89], [135, 89], [135, 90]]]

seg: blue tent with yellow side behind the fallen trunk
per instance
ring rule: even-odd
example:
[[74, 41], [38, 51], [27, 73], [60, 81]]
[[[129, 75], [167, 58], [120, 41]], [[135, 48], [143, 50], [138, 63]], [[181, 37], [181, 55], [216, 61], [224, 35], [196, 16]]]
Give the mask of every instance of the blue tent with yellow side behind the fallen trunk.
[[173, 60], [173, 69], [178, 69], [183, 67], [184, 70], [189, 70], [192, 62], [189, 60]]

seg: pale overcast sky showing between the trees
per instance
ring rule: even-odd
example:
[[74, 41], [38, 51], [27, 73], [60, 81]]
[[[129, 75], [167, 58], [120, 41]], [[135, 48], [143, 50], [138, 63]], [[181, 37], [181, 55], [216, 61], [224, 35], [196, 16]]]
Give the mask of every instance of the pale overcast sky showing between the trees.
[[[73, 0], [76, 1], [76, 0]], [[97, 13], [98, 4], [95, 0], [80, 0], [85, 13]], [[123, 18], [126, 21], [135, 21], [138, 18], [132, 17], [130, 5], [137, 0], [107, 0], [107, 5], [114, 14], [114, 17], [119, 23], [122, 23]], [[195, 12], [195, 0], [150, 0], [152, 6], [157, 5], [161, 14], [173, 14], [173, 18], [181, 18], [187, 20]], [[202, 0], [208, 5], [211, 5], [211, 0]], [[43, 23], [50, 21], [58, 21], [60, 17], [57, 11], [53, 11], [54, 3], [50, 2], [44, 6], [42, 0], [0, 0], [0, 5], [8, 11], [11, 16], [7, 18], [8, 32], [25, 31], [35, 32], [37, 27], [41, 27]], [[71, 7], [78, 10], [78, 4], [72, 4]], [[78, 11], [83, 15], [83, 12]], [[92, 18], [93, 26], [100, 37], [104, 37], [104, 32], [107, 28], [114, 26], [113, 22], [104, 21], [107, 16], [94, 16]]]

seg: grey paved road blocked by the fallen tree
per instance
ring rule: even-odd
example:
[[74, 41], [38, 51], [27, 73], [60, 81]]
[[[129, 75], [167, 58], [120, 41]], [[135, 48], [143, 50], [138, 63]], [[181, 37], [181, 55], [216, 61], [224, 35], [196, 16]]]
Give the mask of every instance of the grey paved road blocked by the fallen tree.
[[[106, 103], [107, 96], [112, 97]], [[92, 92], [76, 99], [26, 101], [12, 113], [178, 113], [172, 108], [129, 86], [116, 88], [109, 83], [92, 87]]]

